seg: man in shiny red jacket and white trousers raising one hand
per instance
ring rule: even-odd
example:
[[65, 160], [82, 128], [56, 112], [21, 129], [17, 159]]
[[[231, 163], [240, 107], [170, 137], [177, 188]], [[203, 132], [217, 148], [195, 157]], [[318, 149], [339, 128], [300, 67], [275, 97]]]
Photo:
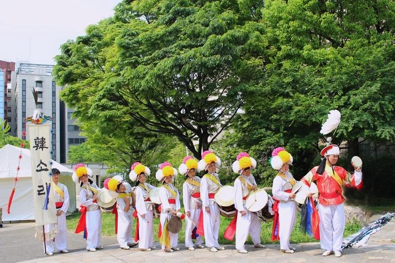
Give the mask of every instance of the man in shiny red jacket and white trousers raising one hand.
[[[329, 145], [321, 150], [321, 155], [325, 158], [331, 154], [340, 154], [337, 145]], [[319, 237], [321, 249], [325, 250], [322, 256], [328, 256], [334, 251], [335, 256], [340, 257], [345, 227], [342, 186], [362, 188], [362, 172], [350, 174], [343, 167], [330, 167], [327, 164], [321, 174], [317, 169], [318, 166], [314, 167], [301, 181], [309, 187], [311, 182], [316, 181], [318, 188]]]

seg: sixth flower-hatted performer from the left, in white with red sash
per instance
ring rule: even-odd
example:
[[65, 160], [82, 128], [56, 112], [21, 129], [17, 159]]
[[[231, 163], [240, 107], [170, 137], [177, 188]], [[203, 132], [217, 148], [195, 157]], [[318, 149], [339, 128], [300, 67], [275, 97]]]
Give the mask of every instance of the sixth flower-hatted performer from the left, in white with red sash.
[[209, 247], [211, 252], [217, 252], [225, 249], [218, 243], [220, 212], [219, 206], [214, 200], [214, 194], [222, 186], [217, 174], [217, 167], [221, 166], [221, 159], [210, 150], [204, 151], [201, 157], [197, 170], [199, 172], [207, 171], [207, 173], [200, 180], [200, 199], [203, 207], [202, 216], [199, 217], [197, 225], [197, 233], [204, 235], [206, 247]]

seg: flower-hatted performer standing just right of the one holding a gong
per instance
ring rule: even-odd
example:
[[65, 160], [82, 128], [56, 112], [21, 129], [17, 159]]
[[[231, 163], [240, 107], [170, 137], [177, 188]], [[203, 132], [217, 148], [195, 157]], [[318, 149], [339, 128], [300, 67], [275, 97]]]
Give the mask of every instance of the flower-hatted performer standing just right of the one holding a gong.
[[187, 179], [182, 186], [184, 211], [186, 214], [185, 225], [185, 246], [188, 250], [195, 250], [193, 237], [196, 239], [197, 248], [204, 248], [201, 235], [196, 233], [197, 222], [201, 212], [200, 200], [200, 178], [196, 177], [197, 160], [191, 156], [186, 156], [183, 163], [178, 168], [180, 174], [185, 175]]

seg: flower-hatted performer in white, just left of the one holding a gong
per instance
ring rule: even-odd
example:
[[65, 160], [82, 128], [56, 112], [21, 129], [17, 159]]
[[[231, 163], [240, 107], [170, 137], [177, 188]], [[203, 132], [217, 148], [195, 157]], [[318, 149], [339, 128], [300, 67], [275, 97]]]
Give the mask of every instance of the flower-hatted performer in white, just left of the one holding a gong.
[[130, 180], [136, 182], [134, 192], [136, 194], [136, 211], [133, 216], [137, 217], [134, 241], [139, 241], [141, 251], [151, 251], [154, 246], [153, 232], [153, 210], [154, 206], [150, 200], [150, 190], [154, 186], [146, 183], [146, 177], [151, 174], [150, 168], [139, 162], [135, 162], [129, 174]]

